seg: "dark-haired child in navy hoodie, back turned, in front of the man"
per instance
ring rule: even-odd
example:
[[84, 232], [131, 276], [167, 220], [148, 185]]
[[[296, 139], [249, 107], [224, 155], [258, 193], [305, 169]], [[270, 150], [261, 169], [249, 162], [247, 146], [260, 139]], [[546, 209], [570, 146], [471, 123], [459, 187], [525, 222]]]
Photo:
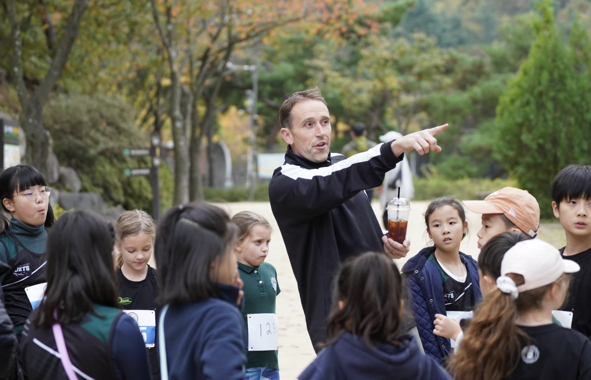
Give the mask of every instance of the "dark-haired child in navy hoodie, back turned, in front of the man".
[[327, 342], [298, 380], [452, 380], [404, 334], [403, 293], [383, 253], [349, 258], [335, 279]]

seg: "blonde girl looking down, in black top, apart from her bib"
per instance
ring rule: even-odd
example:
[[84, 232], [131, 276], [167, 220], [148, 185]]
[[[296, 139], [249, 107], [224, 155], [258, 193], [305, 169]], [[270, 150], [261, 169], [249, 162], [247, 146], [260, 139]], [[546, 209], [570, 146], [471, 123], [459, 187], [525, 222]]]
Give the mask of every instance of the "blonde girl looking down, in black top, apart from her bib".
[[[115, 222], [119, 304], [125, 310], [153, 310], [156, 317], [156, 270], [148, 265], [154, 251], [156, 226], [147, 212], [125, 211]], [[158, 329], [156, 329], [156, 335]], [[154, 342], [155, 343], [155, 342]], [[158, 345], [148, 348], [154, 380], [160, 380]]]

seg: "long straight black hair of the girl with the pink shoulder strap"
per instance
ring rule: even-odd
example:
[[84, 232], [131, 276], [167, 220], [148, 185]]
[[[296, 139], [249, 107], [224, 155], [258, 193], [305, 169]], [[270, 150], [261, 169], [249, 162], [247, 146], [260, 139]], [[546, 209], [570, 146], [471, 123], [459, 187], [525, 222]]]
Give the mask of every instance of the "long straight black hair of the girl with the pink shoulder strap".
[[89, 211], [61, 215], [47, 237], [47, 290], [35, 310], [35, 326], [67, 325], [89, 312], [98, 315], [93, 304], [119, 307], [113, 244], [113, 226], [100, 215]]

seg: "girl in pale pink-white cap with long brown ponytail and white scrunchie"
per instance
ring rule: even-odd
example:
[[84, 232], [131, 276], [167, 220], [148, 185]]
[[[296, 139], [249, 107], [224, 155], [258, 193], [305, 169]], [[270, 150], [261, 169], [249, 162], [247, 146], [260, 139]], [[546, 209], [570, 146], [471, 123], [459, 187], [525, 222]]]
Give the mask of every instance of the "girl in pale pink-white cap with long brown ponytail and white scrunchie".
[[579, 265], [539, 239], [505, 254], [496, 287], [476, 309], [449, 363], [456, 380], [588, 379], [591, 343], [553, 323]]

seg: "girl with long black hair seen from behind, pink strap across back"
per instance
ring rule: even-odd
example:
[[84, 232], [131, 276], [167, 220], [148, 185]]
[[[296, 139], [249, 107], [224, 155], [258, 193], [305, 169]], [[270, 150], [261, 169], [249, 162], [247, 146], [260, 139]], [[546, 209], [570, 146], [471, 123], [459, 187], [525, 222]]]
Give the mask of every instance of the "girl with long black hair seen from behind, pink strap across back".
[[69, 371], [95, 380], [152, 378], [138, 325], [119, 309], [113, 244], [112, 225], [92, 212], [66, 212], [54, 224], [45, 297], [22, 330], [28, 379], [71, 379]]

